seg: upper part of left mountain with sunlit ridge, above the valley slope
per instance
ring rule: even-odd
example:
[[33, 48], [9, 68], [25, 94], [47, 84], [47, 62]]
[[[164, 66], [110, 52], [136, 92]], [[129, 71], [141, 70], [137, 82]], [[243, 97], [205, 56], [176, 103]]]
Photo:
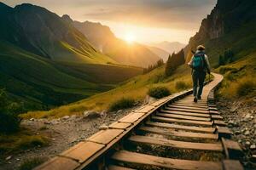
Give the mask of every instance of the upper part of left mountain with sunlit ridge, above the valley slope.
[[45, 8], [21, 4], [10, 8], [3, 3], [0, 14], [2, 40], [55, 61], [114, 62], [97, 53], [84, 35]]

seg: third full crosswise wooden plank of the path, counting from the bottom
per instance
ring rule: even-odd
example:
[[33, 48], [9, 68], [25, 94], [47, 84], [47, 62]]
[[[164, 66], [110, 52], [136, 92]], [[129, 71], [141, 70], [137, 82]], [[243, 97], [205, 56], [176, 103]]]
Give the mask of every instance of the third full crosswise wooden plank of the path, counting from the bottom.
[[187, 130], [187, 131], [200, 132], [200, 133], [214, 133], [216, 130], [213, 127], [192, 127], [192, 126], [184, 126], [184, 125], [162, 123], [162, 122], [146, 122], [146, 125], [154, 126], [154, 127], [172, 128], [177, 130]]

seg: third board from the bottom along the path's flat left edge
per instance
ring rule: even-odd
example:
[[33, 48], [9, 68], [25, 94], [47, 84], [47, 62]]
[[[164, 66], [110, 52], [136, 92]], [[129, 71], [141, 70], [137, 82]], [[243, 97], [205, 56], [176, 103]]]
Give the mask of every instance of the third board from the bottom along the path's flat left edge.
[[96, 142], [99, 144], [108, 144], [123, 132], [124, 130], [120, 130], [120, 129], [102, 130], [92, 135], [89, 139], [87, 139], [87, 141]]

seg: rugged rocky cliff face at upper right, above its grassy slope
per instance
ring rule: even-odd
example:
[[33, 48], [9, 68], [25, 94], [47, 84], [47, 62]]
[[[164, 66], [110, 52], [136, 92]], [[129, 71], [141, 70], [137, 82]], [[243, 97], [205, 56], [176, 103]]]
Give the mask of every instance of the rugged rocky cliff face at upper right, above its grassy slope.
[[[189, 45], [184, 48], [186, 60], [188, 61], [192, 55], [190, 49], [195, 50], [197, 45], [205, 44], [207, 48], [211, 48], [211, 42], [224, 38], [226, 35], [238, 31], [242, 26], [253, 24], [255, 21], [256, 1], [218, 0], [211, 14], [202, 20], [199, 31], [190, 38]], [[247, 33], [246, 30], [241, 32], [244, 35]]]

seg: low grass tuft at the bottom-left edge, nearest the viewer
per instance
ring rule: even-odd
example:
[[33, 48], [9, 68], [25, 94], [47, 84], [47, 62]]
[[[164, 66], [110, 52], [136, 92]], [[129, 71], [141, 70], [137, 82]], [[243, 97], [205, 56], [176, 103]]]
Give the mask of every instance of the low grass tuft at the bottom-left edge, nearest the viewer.
[[47, 158], [45, 157], [34, 157], [32, 159], [27, 159], [21, 163], [19, 170], [31, 170], [34, 167], [38, 167], [38, 165], [44, 163], [46, 160]]

